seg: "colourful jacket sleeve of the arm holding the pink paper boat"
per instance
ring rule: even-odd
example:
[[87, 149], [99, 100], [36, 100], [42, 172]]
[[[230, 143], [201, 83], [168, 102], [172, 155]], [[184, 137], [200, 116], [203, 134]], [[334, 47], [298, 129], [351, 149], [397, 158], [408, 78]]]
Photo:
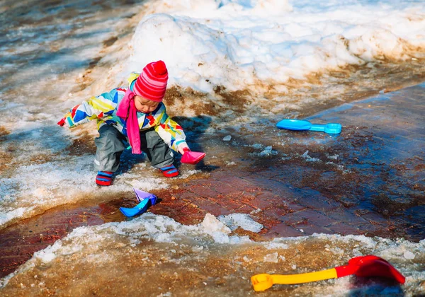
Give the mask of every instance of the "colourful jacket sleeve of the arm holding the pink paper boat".
[[164, 111], [158, 118], [158, 124], [155, 126], [155, 131], [169, 146], [169, 148], [178, 152], [179, 146], [187, 146], [186, 135], [183, 132], [183, 128], [166, 114]]

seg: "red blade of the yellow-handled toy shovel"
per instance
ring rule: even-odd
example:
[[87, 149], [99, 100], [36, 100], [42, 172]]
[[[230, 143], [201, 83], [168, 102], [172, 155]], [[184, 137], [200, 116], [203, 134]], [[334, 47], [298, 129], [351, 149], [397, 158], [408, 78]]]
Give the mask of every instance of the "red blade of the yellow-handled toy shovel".
[[382, 276], [388, 279], [395, 279], [399, 284], [404, 284], [406, 279], [389, 262], [373, 255], [353, 257], [353, 259], [348, 261], [348, 265], [335, 267], [335, 269], [338, 277], [349, 274], [356, 274], [356, 276], [361, 277]]

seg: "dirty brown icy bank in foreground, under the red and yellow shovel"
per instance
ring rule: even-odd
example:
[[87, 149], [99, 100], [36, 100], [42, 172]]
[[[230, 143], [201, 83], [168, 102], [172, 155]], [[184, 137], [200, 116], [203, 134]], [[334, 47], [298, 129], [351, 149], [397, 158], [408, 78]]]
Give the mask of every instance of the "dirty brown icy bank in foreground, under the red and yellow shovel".
[[[244, 228], [249, 228], [249, 223]], [[254, 274], [319, 271], [370, 254], [388, 260], [406, 276], [406, 284], [346, 276], [310, 284], [275, 285], [260, 295], [425, 293], [424, 240], [410, 243], [355, 235], [312, 235], [254, 243], [230, 233], [230, 228], [212, 215], [191, 226], [166, 216], [144, 214], [128, 222], [80, 227], [35, 253], [17, 272], [2, 279], [0, 294], [249, 296], [256, 295], [250, 282]]]

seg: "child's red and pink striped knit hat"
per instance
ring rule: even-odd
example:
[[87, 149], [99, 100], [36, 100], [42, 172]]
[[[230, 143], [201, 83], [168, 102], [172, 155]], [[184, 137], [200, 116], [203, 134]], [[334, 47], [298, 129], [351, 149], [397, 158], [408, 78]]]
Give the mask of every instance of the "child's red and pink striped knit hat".
[[145, 66], [135, 82], [133, 91], [145, 99], [161, 102], [164, 99], [168, 71], [161, 60]]

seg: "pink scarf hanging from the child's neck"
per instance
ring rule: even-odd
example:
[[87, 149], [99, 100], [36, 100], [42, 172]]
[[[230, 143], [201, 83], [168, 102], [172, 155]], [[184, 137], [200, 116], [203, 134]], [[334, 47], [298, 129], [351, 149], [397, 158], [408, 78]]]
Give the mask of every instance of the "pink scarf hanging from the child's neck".
[[118, 117], [127, 122], [127, 135], [132, 153], [142, 153], [140, 150], [140, 129], [135, 107], [135, 93], [130, 88], [125, 92], [123, 100], [118, 105]]

